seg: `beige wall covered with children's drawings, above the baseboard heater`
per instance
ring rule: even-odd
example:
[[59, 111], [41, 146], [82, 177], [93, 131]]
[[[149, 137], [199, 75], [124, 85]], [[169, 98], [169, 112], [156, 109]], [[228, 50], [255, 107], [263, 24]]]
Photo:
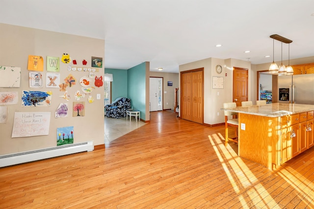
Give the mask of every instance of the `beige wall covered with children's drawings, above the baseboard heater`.
[[[59, 88], [29, 88], [27, 58], [28, 55], [38, 55], [44, 58], [44, 71], [46, 70], [47, 56], [62, 56], [67, 52], [72, 59], [78, 61], [77, 66], [82, 66], [83, 59], [88, 61], [90, 66], [91, 56], [105, 58], [105, 41], [63, 33], [56, 33], [45, 30], [38, 30], [27, 27], [14, 26], [0, 23], [0, 65], [21, 67], [21, 87], [20, 88], [0, 88], [0, 92], [18, 92], [19, 101], [15, 105], [7, 105], [8, 120], [6, 123], [0, 123], [0, 155], [19, 153], [29, 150], [37, 150], [56, 146], [56, 129], [58, 127], [74, 126], [74, 143], [84, 141], [94, 141], [94, 145], [104, 144], [104, 87], [95, 87], [91, 93], [94, 97], [94, 103], [88, 103], [88, 94], [81, 98], [85, 101], [85, 116], [73, 117], [72, 107], [75, 101], [74, 93], [81, 91], [79, 78], [87, 76], [87, 72], [68, 71], [67, 64], [60, 63], [61, 81], [70, 73], [77, 79], [76, 85], [69, 88], [68, 93], [71, 96], [69, 101], [59, 97], [63, 92]], [[103, 60], [105, 61], [105, 60]], [[104, 77], [104, 68], [99, 68], [96, 75]], [[2, 79], [2, 78], [1, 78]], [[22, 91], [38, 90], [52, 91], [52, 104], [48, 107], [22, 107]], [[96, 94], [101, 94], [101, 99], [96, 99]], [[68, 117], [55, 118], [54, 113], [60, 103], [68, 103]], [[11, 138], [12, 126], [15, 112], [50, 112], [50, 129], [48, 136], [36, 136], [25, 138]]]

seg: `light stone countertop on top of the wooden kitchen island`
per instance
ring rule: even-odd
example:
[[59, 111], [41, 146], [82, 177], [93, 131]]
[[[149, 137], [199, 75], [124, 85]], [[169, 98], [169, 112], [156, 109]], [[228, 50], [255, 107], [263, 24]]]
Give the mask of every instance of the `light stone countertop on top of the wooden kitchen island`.
[[266, 117], [280, 117], [314, 110], [314, 105], [270, 103], [249, 107], [221, 108], [221, 110]]

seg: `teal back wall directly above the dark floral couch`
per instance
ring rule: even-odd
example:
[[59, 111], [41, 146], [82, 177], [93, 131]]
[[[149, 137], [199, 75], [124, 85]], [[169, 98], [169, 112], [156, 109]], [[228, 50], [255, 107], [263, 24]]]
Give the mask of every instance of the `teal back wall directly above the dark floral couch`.
[[113, 76], [111, 101], [118, 97], [128, 97], [128, 70], [105, 68], [105, 73], [110, 73]]

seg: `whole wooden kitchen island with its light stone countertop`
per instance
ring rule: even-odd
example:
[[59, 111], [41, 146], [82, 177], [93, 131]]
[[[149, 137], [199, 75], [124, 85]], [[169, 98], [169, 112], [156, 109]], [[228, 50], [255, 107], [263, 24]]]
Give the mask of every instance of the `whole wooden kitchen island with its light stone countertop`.
[[238, 114], [238, 155], [269, 169], [314, 145], [314, 105], [270, 103], [221, 110]]

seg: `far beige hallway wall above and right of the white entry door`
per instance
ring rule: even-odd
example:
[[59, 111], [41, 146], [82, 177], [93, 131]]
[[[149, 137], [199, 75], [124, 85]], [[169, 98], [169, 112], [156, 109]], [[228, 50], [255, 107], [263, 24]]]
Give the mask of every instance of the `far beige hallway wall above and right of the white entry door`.
[[[175, 89], [179, 88], [179, 73], [150, 72], [150, 77], [163, 78], [163, 109], [174, 108]], [[172, 86], [168, 86], [168, 81], [172, 81]]]

